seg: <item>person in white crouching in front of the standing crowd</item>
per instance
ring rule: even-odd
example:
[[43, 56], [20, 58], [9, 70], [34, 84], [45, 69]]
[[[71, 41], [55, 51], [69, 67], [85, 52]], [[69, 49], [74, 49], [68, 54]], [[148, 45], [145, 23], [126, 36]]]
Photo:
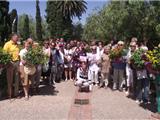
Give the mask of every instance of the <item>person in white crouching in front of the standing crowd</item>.
[[86, 62], [82, 62], [81, 67], [77, 70], [77, 81], [75, 85], [80, 89], [89, 87], [89, 91], [92, 91], [92, 82], [88, 80], [88, 68]]

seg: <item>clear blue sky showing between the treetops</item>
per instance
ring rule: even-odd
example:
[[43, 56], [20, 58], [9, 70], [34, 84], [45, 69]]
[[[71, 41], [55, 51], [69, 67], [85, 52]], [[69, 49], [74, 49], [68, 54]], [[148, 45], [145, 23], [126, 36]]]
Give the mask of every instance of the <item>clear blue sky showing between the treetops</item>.
[[[31, 15], [35, 17], [36, 15], [36, 0], [9, 0], [9, 11], [12, 9], [16, 9], [18, 12], [18, 15], [21, 15], [23, 13], [26, 13], [28, 15]], [[81, 20], [79, 21], [77, 18], [73, 18], [73, 22], [81, 22], [82, 24], [85, 24], [86, 18], [92, 13], [95, 9], [101, 9], [108, 0], [88, 0], [87, 2], [87, 10], [86, 13], [82, 15]], [[41, 10], [41, 16], [45, 18], [46, 15], [45, 9], [46, 9], [46, 0], [40, 0], [40, 10]]]

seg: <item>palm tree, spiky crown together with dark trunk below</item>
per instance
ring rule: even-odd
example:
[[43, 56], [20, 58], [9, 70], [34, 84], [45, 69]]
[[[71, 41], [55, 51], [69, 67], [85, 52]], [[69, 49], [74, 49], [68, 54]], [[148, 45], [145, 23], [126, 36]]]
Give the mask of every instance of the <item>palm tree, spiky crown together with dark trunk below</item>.
[[84, 0], [64, 0], [59, 1], [57, 9], [62, 13], [64, 24], [64, 38], [73, 38], [73, 29], [72, 18], [78, 17], [81, 19], [83, 13], [86, 12], [86, 2]]

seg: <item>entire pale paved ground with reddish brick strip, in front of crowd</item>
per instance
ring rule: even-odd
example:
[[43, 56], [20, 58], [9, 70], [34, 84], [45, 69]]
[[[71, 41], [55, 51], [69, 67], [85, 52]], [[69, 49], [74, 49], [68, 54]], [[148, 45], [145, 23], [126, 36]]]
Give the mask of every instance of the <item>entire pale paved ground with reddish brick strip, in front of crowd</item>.
[[[0, 101], [0, 120], [143, 120], [151, 112], [124, 93], [94, 87], [92, 93], [79, 93], [72, 81], [56, 84], [56, 89], [41, 86], [40, 95]], [[89, 99], [88, 105], [74, 104], [76, 98]]]

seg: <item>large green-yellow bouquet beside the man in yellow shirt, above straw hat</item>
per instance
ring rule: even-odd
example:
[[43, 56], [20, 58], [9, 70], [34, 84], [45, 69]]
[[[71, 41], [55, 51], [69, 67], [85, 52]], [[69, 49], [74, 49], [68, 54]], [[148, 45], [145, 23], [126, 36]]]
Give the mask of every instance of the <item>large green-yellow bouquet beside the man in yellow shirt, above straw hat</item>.
[[48, 56], [44, 54], [41, 47], [30, 48], [23, 58], [27, 65], [44, 64], [48, 60]]

